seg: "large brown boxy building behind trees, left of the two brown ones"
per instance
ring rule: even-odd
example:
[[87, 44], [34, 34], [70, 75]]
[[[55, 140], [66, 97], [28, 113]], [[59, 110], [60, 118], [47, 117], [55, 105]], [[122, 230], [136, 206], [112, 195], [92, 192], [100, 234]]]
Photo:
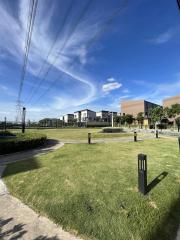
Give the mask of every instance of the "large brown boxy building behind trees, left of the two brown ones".
[[138, 113], [142, 112], [144, 114], [144, 117], [148, 118], [150, 110], [157, 106], [160, 105], [145, 100], [122, 101], [121, 115], [131, 114], [136, 117]]

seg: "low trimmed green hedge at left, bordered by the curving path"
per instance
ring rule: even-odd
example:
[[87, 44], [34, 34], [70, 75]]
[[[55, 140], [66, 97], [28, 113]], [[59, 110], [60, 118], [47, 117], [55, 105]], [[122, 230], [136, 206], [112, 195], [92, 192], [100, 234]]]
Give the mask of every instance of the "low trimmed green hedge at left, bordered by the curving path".
[[0, 139], [0, 154], [32, 149], [46, 142], [46, 135], [39, 133], [17, 133], [15, 138]]

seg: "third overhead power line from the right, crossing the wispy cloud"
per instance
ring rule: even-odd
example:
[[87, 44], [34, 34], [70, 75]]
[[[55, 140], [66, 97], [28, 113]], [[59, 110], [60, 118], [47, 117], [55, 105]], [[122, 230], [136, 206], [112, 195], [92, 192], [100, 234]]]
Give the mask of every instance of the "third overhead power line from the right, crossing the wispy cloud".
[[[51, 52], [53, 51], [53, 48], [54, 48], [54, 46], [55, 46], [55, 44], [56, 44], [56, 42], [57, 42], [57, 40], [58, 40], [58, 37], [59, 37], [60, 33], [62, 32], [63, 27], [65, 26], [65, 23], [66, 23], [66, 21], [67, 21], [67, 19], [68, 19], [69, 13], [70, 13], [71, 10], [72, 10], [72, 7], [73, 7], [73, 0], [71, 0], [71, 2], [70, 2], [70, 4], [69, 4], [69, 7], [68, 7], [68, 9], [67, 9], [67, 11], [66, 11], [66, 14], [65, 14], [65, 16], [64, 16], [64, 18], [63, 18], [62, 24], [60, 25], [60, 28], [58, 29], [58, 31], [57, 31], [57, 33], [56, 33], [55, 39], [54, 39], [51, 47], [49, 48], [49, 51], [48, 51], [48, 53], [47, 53], [47, 55], [46, 55], [46, 58], [44, 59], [43, 64], [41, 65], [41, 68], [40, 68], [38, 74], [36, 75], [36, 77], [39, 77], [39, 76], [41, 75], [41, 73], [43, 72], [43, 69], [44, 69], [44, 67], [45, 67], [45, 65], [46, 65], [46, 63], [47, 63], [47, 60], [48, 60]], [[35, 90], [35, 88], [36, 88], [36, 86], [34, 86], [34, 87], [31, 88], [31, 90], [30, 90], [30, 95], [29, 95], [29, 97], [26, 99], [26, 102], [27, 102], [27, 103], [31, 101], [31, 99], [32, 99], [32, 97], [33, 97], [33, 95], [34, 95], [33, 91]]]

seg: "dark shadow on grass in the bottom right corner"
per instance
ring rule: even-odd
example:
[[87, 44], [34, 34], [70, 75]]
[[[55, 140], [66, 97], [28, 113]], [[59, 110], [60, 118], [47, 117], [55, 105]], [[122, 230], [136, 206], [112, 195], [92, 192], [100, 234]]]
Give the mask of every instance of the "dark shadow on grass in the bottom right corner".
[[168, 213], [154, 227], [149, 240], [179, 240], [177, 238], [178, 228], [180, 227], [180, 192], [179, 198], [171, 204]]

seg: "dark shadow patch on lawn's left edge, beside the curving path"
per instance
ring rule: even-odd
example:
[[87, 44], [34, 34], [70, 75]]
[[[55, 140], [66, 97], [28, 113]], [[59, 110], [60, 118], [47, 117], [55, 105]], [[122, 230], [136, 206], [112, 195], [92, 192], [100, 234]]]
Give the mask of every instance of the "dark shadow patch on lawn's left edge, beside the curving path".
[[41, 164], [36, 158], [31, 158], [26, 161], [19, 161], [15, 163], [8, 164], [5, 171], [3, 172], [3, 177], [18, 174], [21, 172], [28, 172], [35, 169], [39, 169]]

